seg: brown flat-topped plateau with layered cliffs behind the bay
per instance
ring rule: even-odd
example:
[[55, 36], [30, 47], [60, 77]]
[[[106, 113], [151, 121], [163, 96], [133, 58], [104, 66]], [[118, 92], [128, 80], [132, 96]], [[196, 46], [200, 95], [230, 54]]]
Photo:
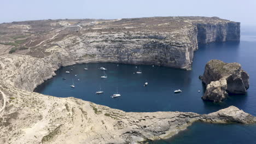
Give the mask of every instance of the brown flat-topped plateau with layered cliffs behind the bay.
[[[0, 25], [0, 53], [191, 69], [197, 43], [239, 41], [240, 23], [218, 17], [43, 20]], [[2, 49], [2, 51], [1, 51]]]

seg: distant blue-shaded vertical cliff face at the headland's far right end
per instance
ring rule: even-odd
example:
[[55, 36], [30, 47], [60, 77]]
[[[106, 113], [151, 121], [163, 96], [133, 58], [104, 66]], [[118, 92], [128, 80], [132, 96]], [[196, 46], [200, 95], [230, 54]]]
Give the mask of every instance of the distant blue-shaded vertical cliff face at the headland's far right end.
[[240, 41], [239, 22], [197, 23], [196, 26], [198, 43]]

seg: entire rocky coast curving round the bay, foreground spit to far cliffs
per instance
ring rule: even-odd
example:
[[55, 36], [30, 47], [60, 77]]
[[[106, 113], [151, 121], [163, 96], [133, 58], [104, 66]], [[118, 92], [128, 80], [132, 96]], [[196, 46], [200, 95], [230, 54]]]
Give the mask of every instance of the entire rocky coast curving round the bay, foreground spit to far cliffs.
[[[124, 112], [33, 92], [55, 70], [75, 63], [190, 69], [197, 43], [239, 40], [239, 23], [230, 23], [235, 22], [216, 17], [149, 17], [1, 24], [0, 143], [136, 143], [171, 137], [195, 121], [254, 123], [255, 117], [234, 106], [208, 115]], [[8, 51], [12, 55], [6, 55]], [[244, 83], [247, 76], [241, 71]]]

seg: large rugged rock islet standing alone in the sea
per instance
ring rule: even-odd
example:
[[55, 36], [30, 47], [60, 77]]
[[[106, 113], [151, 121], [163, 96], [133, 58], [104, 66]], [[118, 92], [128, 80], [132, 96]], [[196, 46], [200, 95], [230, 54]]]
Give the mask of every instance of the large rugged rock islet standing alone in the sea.
[[204, 100], [222, 101], [228, 95], [226, 92], [241, 94], [249, 88], [249, 75], [239, 63], [213, 59], [206, 64], [201, 79], [206, 85]]

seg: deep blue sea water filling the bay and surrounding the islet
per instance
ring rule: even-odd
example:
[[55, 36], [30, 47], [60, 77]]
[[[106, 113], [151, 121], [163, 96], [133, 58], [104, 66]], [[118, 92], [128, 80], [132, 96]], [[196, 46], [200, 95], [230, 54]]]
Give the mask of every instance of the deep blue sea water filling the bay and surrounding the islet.
[[[127, 112], [183, 111], [210, 113], [230, 105], [256, 116], [256, 33], [242, 31], [240, 43], [199, 45], [193, 59], [193, 70], [186, 71], [152, 65], [90, 63], [60, 68], [53, 79], [45, 81], [35, 92], [56, 97], [75, 97]], [[223, 103], [201, 99], [205, 87], [199, 80], [205, 64], [211, 59], [238, 62], [250, 76], [247, 94], [230, 95]], [[136, 68], [137, 66], [137, 68]], [[107, 68], [107, 79], [101, 79]], [[73, 70], [71, 70], [73, 69]], [[138, 69], [142, 74], [136, 74]], [[70, 71], [66, 74], [65, 71]], [[135, 74], [134, 74], [135, 73]], [[77, 76], [75, 76], [77, 75]], [[66, 80], [62, 78], [65, 77]], [[79, 81], [78, 81], [79, 79]], [[143, 87], [145, 82], [147, 87]], [[71, 88], [74, 82], [75, 88]], [[96, 91], [101, 86], [103, 94]], [[117, 91], [119, 98], [110, 98]], [[181, 89], [182, 93], [173, 91]], [[201, 92], [197, 92], [197, 91]], [[256, 125], [195, 123], [169, 140], [152, 143], [256, 143]]]

